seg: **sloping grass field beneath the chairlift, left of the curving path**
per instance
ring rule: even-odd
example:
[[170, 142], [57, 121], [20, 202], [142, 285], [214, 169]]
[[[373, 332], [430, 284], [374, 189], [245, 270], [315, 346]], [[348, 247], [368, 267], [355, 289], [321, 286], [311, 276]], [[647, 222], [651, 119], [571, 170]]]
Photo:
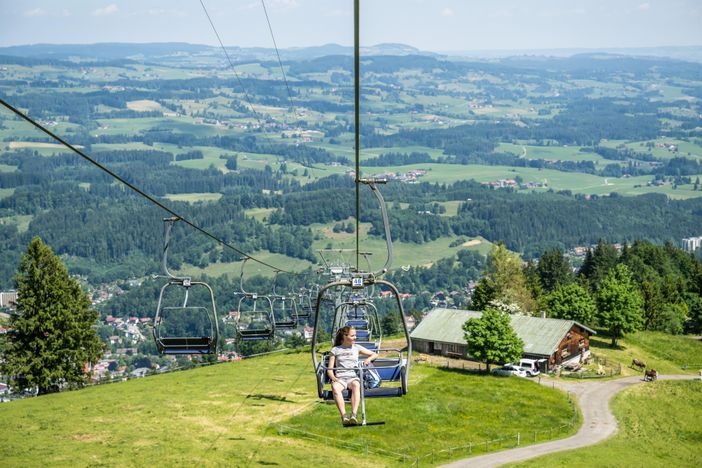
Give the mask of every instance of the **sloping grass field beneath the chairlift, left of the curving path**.
[[573, 415], [565, 394], [535, 382], [429, 366], [413, 367], [408, 395], [368, 400], [367, 412], [386, 424], [343, 429], [336, 408], [318, 403], [309, 353], [273, 354], [0, 405], [0, 457], [5, 466], [401, 466], [372, 451], [411, 459]]

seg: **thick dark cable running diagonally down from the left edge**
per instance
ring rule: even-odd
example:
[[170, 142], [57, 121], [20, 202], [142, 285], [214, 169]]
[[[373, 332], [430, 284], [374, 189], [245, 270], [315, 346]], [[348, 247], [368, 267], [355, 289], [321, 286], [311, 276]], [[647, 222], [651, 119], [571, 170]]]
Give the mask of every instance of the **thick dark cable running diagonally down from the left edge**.
[[205, 236], [207, 236], [207, 237], [209, 237], [210, 239], [214, 240], [215, 242], [217, 242], [217, 243], [219, 243], [219, 244], [221, 244], [221, 245], [223, 245], [223, 246], [225, 246], [225, 247], [227, 247], [227, 248], [229, 248], [229, 249], [235, 251], [235, 252], [238, 253], [239, 255], [242, 255], [243, 257], [246, 257], [246, 258], [248, 258], [249, 260], [253, 260], [254, 262], [256, 262], [256, 263], [258, 263], [258, 264], [260, 264], [260, 265], [263, 265], [263, 266], [265, 266], [265, 267], [267, 267], [267, 268], [270, 268], [271, 270], [281, 271], [281, 272], [285, 272], [285, 273], [293, 273], [293, 272], [289, 272], [289, 271], [283, 270], [283, 269], [281, 269], [281, 268], [278, 268], [278, 267], [276, 267], [276, 266], [274, 266], [274, 265], [271, 265], [271, 264], [269, 264], [269, 263], [266, 263], [266, 262], [264, 262], [263, 260], [259, 260], [259, 259], [255, 258], [255, 257], [253, 257], [253, 256], [251, 256], [251, 255], [249, 255], [249, 254], [247, 254], [246, 252], [243, 252], [242, 250], [240, 250], [240, 249], [234, 247], [234, 246], [231, 245], [230, 243], [228, 243], [228, 242], [226, 242], [226, 241], [220, 239], [219, 237], [215, 236], [214, 234], [211, 234], [209, 231], [206, 231], [205, 229], [201, 228], [200, 226], [198, 226], [198, 225], [195, 224], [194, 222], [188, 220], [188, 219], [185, 218], [184, 216], [182, 216], [182, 215], [178, 214], [177, 212], [173, 211], [171, 208], [167, 207], [166, 205], [164, 205], [163, 203], [161, 203], [160, 201], [158, 201], [157, 199], [155, 199], [155, 198], [152, 197], [151, 195], [147, 194], [146, 192], [144, 192], [143, 190], [141, 190], [139, 187], [137, 187], [137, 186], [135, 186], [134, 184], [128, 182], [127, 180], [125, 180], [124, 178], [120, 177], [119, 175], [117, 175], [116, 173], [114, 173], [113, 171], [111, 171], [110, 169], [108, 169], [107, 167], [103, 166], [102, 164], [100, 164], [99, 162], [97, 162], [95, 159], [91, 158], [89, 155], [87, 155], [87, 154], [84, 153], [83, 151], [81, 151], [81, 150], [79, 150], [78, 148], [76, 148], [75, 146], [71, 145], [70, 143], [68, 143], [67, 141], [65, 141], [63, 138], [61, 138], [60, 136], [58, 136], [58, 135], [56, 135], [55, 133], [53, 133], [51, 130], [47, 129], [46, 127], [44, 127], [44, 126], [41, 125], [40, 123], [38, 123], [38, 122], [36, 122], [35, 120], [33, 120], [33, 119], [32, 119], [31, 117], [29, 117], [28, 115], [24, 114], [24, 113], [23, 113], [22, 111], [20, 111], [19, 109], [15, 108], [15, 107], [13, 107], [11, 104], [7, 103], [4, 99], [0, 98], [0, 104], [2, 104], [2, 105], [3, 105], [4, 107], [6, 107], [8, 110], [12, 111], [12, 112], [13, 112], [14, 114], [16, 114], [17, 116], [21, 117], [23, 120], [25, 120], [25, 121], [29, 122], [30, 124], [32, 124], [35, 128], [41, 130], [42, 132], [44, 132], [45, 134], [47, 134], [48, 136], [50, 136], [50, 137], [53, 138], [54, 140], [58, 141], [59, 143], [61, 143], [61, 144], [62, 144], [63, 146], [65, 146], [66, 148], [68, 148], [68, 149], [70, 149], [71, 151], [73, 151], [74, 153], [78, 154], [80, 157], [82, 157], [82, 158], [85, 159], [86, 161], [90, 162], [91, 164], [93, 164], [94, 166], [96, 166], [96, 167], [97, 167], [98, 169], [100, 169], [101, 171], [106, 172], [108, 175], [110, 175], [110, 176], [113, 177], [114, 179], [117, 179], [119, 182], [121, 182], [122, 184], [124, 184], [125, 186], [127, 186], [127, 187], [128, 187], [129, 189], [131, 189], [132, 191], [138, 193], [139, 195], [141, 195], [142, 197], [146, 198], [148, 201], [150, 201], [150, 202], [153, 203], [154, 205], [158, 206], [159, 208], [161, 208], [162, 210], [166, 211], [167, 213], [170, 213], [172, 216], [174, 216], [174, 217], [180, 219], [181, 221], [183, 221], [183, 222], [184, 222], [185, 224], [187, 224], [188, 226], [190, 226], [190, 227], [192, 227], [193, 229], [195, 229], [195, 230], [201, 232], [202, 234], [204, 234]]

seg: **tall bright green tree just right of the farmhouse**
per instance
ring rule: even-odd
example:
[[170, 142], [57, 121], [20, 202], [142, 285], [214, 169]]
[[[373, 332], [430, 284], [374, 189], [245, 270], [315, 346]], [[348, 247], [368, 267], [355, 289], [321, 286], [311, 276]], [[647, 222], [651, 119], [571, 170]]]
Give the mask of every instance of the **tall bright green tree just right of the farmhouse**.
[[595, 298], [597, 318], [612, 336], [612, 346], [626, 333], [643, 325], [643, 299], [624, 264], [614, 267], [601, 281]]

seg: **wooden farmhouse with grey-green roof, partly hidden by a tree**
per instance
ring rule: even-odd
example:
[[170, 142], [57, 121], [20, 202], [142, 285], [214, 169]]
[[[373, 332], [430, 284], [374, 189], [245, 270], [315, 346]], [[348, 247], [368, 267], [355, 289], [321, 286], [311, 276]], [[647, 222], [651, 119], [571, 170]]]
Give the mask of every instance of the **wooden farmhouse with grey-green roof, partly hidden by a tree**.
[[[412, 331], [412, 348], [420, 353], [468, 358], [463, 324], [481, 312], [437, 308]], [[524, 357], [545, 359], [548, 369], [590, 354], [595, 331], [574, 321], [512, 315], [512, 328], [524, 341]]]

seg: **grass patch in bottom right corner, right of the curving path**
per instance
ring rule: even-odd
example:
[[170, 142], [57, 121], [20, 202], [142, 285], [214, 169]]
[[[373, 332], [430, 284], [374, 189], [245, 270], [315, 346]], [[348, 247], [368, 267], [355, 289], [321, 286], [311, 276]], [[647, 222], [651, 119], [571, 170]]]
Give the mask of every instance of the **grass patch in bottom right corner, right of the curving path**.
[[635, 385], [610, 402], [619, 432], [600, 444], [535, 458], [519, 467], [702, 465], [702, 382]]

